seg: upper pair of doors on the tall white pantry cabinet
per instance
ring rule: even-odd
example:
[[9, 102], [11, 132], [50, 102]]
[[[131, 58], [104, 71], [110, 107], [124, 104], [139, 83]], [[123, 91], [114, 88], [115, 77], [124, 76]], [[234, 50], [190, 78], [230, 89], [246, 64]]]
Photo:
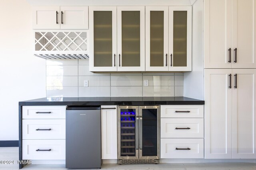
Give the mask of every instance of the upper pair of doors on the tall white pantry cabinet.
[[256, 68], [255, 0], [204, 0], [204, 68]]

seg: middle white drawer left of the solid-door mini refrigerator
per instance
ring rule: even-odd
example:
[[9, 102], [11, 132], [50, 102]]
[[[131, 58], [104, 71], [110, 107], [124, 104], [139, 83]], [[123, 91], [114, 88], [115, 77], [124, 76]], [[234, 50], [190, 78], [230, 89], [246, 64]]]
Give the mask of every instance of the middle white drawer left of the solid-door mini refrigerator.
[[66, 119], [23, 119], [23, 139], [66, 139]]

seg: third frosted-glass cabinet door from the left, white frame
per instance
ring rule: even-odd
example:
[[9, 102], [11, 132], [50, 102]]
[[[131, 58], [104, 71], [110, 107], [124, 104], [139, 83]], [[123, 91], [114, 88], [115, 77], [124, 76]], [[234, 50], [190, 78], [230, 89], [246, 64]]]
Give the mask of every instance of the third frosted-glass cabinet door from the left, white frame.
[[146, 71], [168, 71], [168, 6], [146, 6]]

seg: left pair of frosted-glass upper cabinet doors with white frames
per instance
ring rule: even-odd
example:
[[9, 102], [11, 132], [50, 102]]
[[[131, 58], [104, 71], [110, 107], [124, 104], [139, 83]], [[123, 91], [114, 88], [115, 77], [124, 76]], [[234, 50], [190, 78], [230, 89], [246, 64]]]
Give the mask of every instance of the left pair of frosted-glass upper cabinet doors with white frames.
[[145, 7], [90, 7], [90, 71], [145, 71]]

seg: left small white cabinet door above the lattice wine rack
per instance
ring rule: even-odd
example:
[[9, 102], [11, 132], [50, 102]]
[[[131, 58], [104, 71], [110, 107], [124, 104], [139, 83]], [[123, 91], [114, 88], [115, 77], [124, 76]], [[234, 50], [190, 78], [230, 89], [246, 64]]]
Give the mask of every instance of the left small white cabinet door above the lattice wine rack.
[[34, 6], [33, 29], [60, 29], [59, 6]]

